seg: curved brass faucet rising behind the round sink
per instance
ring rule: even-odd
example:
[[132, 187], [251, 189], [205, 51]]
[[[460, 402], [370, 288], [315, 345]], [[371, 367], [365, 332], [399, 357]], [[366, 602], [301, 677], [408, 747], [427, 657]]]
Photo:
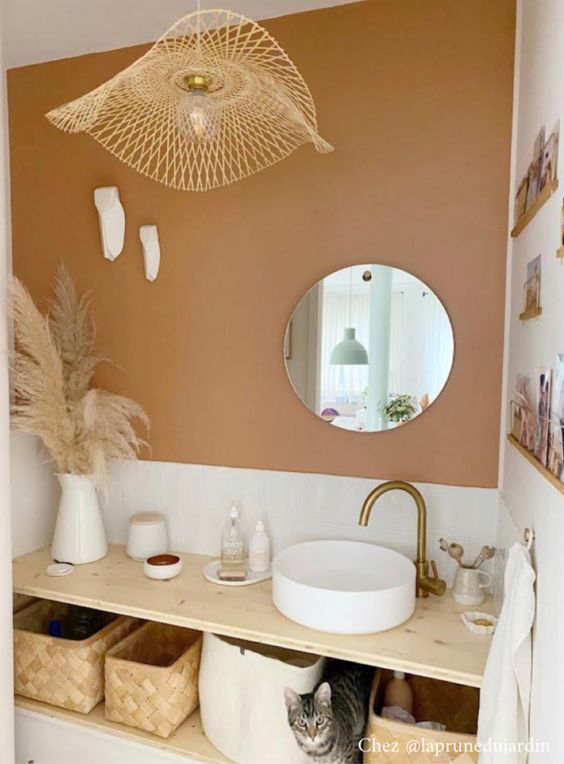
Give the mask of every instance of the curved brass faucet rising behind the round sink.
[[368, 525], [368, 518], [372, 512], [372, 507], [380, 496], [388, 493], [388, 491], [405, 491], [417, 505], [417, 559], [415, 560], [415, 568], [417, 570], [415, 593], [417, 597], [428, 597], [429, 592], [442, 597], [446, 591], [446, 582], [439, 578], [434, 560], [431, 560], [433, 575], [429, 576], [429, 563], [427, 561], [427, 508], [425, 507], [423, 496], [421, 496], [415, 486], [405, 483], [403, 480], [389, 480], [387, 483], [376, 486], [376, 488], [370, 491], [362, 504], [358, 524], [362, 526]]

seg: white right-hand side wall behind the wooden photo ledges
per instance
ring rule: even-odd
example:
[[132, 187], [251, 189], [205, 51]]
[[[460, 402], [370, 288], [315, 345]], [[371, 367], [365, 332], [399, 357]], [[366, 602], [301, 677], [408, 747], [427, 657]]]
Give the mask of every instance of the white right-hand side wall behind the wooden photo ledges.
[[[532, 157], [535, 136], [542, 124], [550, 132], [561, 120], [564, 143], [564, 2], [519, 0], [517, 92], [514, 121], [515, 185]], [[505, 402], [514, 390], [516, 374], [534, 378], [539, 366], [553, 366], [564, 352], [564, 264], [555, 257], [560, 236], [560, 207], [564, 186], [564, 150], [559, 157], [559, 191], [513, 241], [509, 252], [509, 334]], [[540, 318], [518, 320], [526, 264], [542, 253], [542, 307]], [[507, 431], [507, 428], [506, 430]], [[550, 753], [533, 754], [532, 764], [564, 761], [564, 609], [562, 608], [562, 548], [564, 497], [552, 487], [505, 437], [502, 440], [501, 495], [509, 515], [521, 531], [536, 533], [537, 617], [531, 734], [550, 745]]]

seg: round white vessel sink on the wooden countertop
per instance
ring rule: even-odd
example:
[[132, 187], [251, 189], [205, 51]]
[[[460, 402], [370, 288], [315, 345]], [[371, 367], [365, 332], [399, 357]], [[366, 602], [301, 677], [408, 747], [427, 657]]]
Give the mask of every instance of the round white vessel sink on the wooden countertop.
[[374, 544], [310, 541], [276, 555], [272, 596], [281, 613], [311, 629], [385, 631], [415, 609], [415, 565]]

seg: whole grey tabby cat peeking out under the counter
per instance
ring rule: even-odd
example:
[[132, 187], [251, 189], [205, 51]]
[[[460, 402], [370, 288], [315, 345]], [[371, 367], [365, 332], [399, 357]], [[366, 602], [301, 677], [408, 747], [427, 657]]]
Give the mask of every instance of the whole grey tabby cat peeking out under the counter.
[[330, 661], [313, 692], [298, 695], [286, 687], [288, 724], [296, 742], [319, 764], [362, 761], [374, 669], [346, 661]]

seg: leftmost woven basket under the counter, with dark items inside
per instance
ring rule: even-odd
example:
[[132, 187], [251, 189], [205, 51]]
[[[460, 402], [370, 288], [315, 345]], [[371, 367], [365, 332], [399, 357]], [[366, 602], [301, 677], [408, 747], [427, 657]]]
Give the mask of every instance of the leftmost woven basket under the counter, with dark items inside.
[[16, 695], [87, 714], [104, 697], [104, 656], [139, 625], [105, 615], [107, 625], [88, 639], [51, 637], [51, 619], [64, 620], [69, 605], [39, 600], [14, 615]]

